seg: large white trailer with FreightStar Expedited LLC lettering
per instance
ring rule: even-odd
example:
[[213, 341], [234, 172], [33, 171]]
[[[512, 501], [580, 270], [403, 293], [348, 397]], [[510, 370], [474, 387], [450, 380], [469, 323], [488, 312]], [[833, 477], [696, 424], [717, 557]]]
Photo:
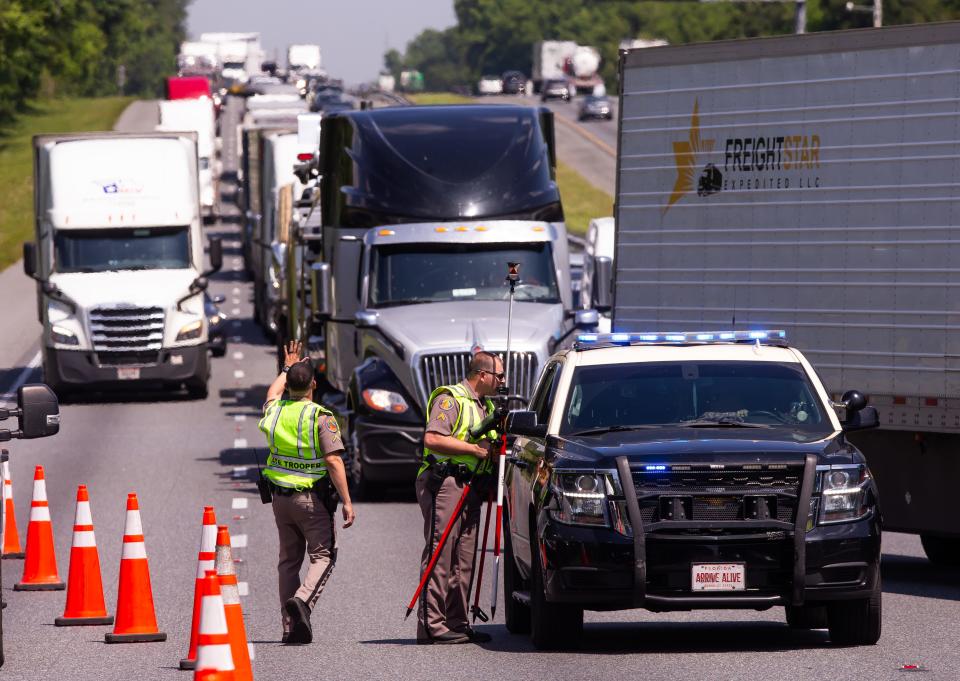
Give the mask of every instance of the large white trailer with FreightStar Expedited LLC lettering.
[[960, 563], [960, 23], [624, 52], [615, 331], [785, 329]]

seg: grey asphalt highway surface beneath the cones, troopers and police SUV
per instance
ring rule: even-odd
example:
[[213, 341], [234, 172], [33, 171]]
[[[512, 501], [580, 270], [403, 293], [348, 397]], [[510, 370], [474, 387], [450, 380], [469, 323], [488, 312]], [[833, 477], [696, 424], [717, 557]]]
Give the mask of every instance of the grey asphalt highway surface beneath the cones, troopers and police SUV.
[[[233, 101], [228, 106], [226, 115], [232, 120], [238, 114], [237, 104]], [[223, 129], [229, 134], [235, 128], [228, 124]], [[230, 155], [236, 147], [230, 142], [225, 140], [223, 145], [228, 173], [236, 167]], [[124, 502], [127, 492], [139, 494], [153, 597], [168, 640], [108, 646], [103, 634], [109, 627], [54, 627], [54, 618], [63, 611], [64, 593], [14, 592], [22, 562], [6, 560], [3, 596], [9, 607], [3, 611], [3, 677], [191, 678], [177, 664], [187, 651], [204, 504], [216, 506], [218, 520], [229, 524], [233, 534], [239, 580], [246, 594], [241, 600], [255, 652], [254, 673], [261, 680], [879, 681], [903, 678], [904, 664], [925, 667], [924, 678], [960, 677], [958, 574], [931, 566], [922, 558], [918, 540], [900, 534], [884, 538], [884, 633], [873, 647], [834, 648], [825, 631], [793, 632], [783, 622], [782, 608], [588, 613], [580, 649], [557, 653], [536, 652], [526, 638], [511, 636], [498, 614], [494, 622], [478, 627], [493, 635], [490, 644], [416, 646], [415, 622], [403, 620], [417, 581], [421, 543], [420, 512], [409, 488], [396, 490], [381, 502], [357, 504], [356, 525], [338, 534], [339, 561], [313, 618], [315, 643], [282, 646], [276, 532], [270, 509], [260, 505], [253, 484], [254, 448], [261, 444], [256, 428], [259, 406], [275, 364], [271, 346], [251, 320], [250, 285], [240, 271], [229, 183], [224, 196], [227, 219], [208, 228], [208, 233], [226, 240], [224, 271], [213, 278], [211, 289], [227, 296], [223, 307], [232, 320], [231, 342], [227, 355], [213, 361], [210, 397], [98, 396], [65, 405], [63, 426], [56, 437], [8, 445], [21, 539], [25, 539], [33, 467], [46, 467], [64, 579], [76, 486], [89, 486], [111, 612], [116, 603]], [[28, 366], [36, 355], [40, 331], [33, 288], [19, 281], [23, 275], [17, 267], [0, 275], [5, 292], [7, 286], [18, 286], [15, 290], [24, 298], [11, 301], [5, 296], [0, 346], [16, 350], [2, 355], [6, 370], [0, 374], [0, 394], [18, 378], [39, 378]], [[485, 581], [489, 584], [489, 575]]]

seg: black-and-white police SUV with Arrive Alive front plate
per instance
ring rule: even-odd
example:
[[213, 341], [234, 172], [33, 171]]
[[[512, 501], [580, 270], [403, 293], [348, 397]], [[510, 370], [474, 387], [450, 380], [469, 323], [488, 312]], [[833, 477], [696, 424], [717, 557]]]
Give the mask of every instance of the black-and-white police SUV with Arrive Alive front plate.
[[507, 629], [575, 645], [583, 611], [786, 609], [836, 645], [880, 636], [880, 509], [781, 331], [584, 334], [545, 364], [505, 472]]

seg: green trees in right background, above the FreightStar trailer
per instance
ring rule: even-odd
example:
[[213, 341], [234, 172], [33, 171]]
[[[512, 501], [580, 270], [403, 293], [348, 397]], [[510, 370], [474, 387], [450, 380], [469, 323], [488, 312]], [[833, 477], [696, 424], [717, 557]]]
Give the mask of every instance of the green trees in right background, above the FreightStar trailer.
[[[660, 38], [670, 44], [792, 33], [793, 2], [645, 2], [642, 0], [454, 0], [457, 23], [427, 29], [400, 53], [384, 55], [386, 70], [424, 74], [428, 90], [469, 88], [481, 74], [517, 69], [530, 75], [533, 44], [575, 40], [603, 57], [601, 74], [616, 86], [620, 41]], [[872, 0], [808, 0], [807, 30], [872, 25]], [[960, 0], [883, 0], [884, 24], [960, 18]]]

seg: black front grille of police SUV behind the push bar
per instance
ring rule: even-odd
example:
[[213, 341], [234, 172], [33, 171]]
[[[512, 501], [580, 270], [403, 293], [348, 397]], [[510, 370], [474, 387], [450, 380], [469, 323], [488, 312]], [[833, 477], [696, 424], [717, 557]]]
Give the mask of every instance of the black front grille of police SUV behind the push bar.
[[[645, 524], [767, 518], [792, 523], [802, 479], [802, 464], [672, 466], [669, 471], [633, 472]], [[760, 517], [758, 504], [764, 509]]]

